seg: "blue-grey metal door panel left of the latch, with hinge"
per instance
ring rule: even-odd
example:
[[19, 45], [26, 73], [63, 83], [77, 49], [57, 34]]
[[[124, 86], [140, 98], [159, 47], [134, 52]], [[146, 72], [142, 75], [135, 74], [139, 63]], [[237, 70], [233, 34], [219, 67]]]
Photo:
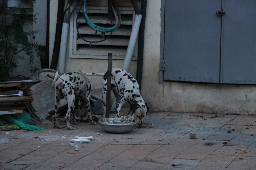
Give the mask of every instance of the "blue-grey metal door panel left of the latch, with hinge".
[[218, 83], [221, 0], [166, 0], [164, 80]]

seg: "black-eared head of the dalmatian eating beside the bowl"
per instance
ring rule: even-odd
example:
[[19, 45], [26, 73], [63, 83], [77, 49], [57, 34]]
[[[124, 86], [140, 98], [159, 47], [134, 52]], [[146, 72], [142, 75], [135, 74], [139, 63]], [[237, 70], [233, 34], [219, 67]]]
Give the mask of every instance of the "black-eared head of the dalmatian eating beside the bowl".
[[149, 106], [144, 101], [133, 101], [130, 106], [130, 110], [128, 115], [135, 114], [135, 120], [137, 121], [138, 126], [143, 125], [144, 117], [147, 116], [149, 110]]

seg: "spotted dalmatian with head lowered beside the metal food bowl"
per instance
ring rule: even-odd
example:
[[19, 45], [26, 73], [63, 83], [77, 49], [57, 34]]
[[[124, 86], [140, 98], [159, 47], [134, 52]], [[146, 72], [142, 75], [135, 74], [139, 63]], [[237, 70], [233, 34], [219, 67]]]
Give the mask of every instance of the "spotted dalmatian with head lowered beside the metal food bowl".
[[[85, 76], [102, 76], [102, 107], [103, 115], [106, 114], [106, 96], [107, 96], [107, 73], [85, 73], [79, 70]], [[111, 90], [117, 99], [116, 118], [120, 117], [121, 107], [129, 102], [130, 110], [128, 114], [136, 115], [138, 126], [143, 125], [143, 119], [147, 115], [149, 107], [144, 102], [139, 92], [139, 85], [135, 78], [127, 71], [113, 68], [111, 72]]]

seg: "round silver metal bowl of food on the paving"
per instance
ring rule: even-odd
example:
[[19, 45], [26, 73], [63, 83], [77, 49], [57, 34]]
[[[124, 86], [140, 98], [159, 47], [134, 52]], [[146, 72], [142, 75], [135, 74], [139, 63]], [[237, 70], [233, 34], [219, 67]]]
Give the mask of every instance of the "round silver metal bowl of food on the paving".
[[[116, 118], [108, 118], [108, 120], [114, 120], [114, 119]], [[105, 132], [113, 133], [113, 134], [122, 134], [122, 133], [130, 132], [135, 128], [137, 124], [135, 120], [133, 120], [133, 122], [131, 123], [118, 123], [118, 124], [105, 123], [105, 122], [102, 122], [101, 120], [99, 120], [98, 122]]]

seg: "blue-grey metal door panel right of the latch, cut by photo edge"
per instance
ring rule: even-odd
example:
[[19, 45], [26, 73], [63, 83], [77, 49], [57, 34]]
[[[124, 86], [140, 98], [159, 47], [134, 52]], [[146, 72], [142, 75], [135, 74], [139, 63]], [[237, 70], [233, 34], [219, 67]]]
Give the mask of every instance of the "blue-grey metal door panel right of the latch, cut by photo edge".
[[256, 84], [256, 1], [223, 2], [221, 83]]

